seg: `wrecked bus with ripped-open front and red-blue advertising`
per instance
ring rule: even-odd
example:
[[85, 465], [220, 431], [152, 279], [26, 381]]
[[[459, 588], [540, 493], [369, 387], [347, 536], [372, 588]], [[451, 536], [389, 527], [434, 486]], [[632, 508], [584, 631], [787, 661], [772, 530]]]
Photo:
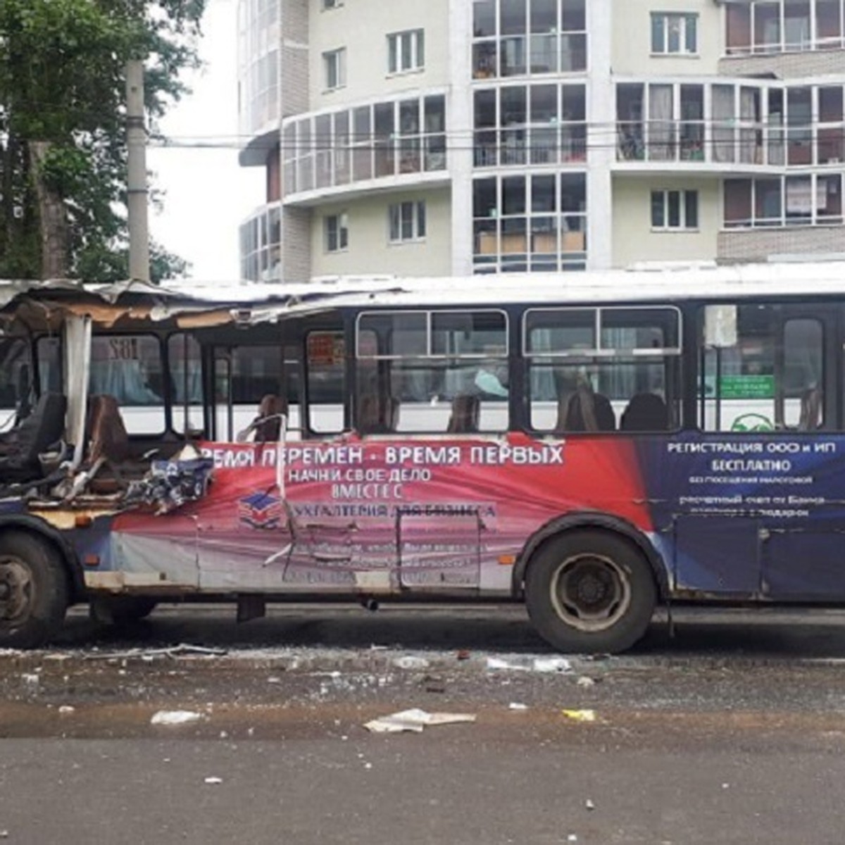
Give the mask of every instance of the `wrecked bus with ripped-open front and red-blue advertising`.
[[[0, 286], [0, 646], [88, 602], [845, 602], [845, 266]], [[812, 293], [810, 293], [812, 292]]]

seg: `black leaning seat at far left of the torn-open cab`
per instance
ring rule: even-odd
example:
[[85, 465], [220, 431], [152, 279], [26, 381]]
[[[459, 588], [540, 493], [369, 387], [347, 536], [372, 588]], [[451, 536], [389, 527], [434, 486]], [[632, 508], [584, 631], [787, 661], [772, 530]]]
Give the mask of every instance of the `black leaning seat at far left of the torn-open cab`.
[[62, 439], [68, 400], [61, 393], [42, 393], [22, 423], [0, 437], [0, 474], [4, 480], [41, 475], [38, 455]]

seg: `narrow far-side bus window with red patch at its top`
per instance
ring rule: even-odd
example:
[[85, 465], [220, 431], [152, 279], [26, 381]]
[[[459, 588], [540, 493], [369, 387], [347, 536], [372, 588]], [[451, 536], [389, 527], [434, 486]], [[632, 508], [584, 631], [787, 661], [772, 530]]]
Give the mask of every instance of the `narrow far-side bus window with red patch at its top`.
[[346, 402], [346, 343], [343, 332], [308, 332], [305, 346], [308, 357], [308, 428], [318, 434], [341, 433]]

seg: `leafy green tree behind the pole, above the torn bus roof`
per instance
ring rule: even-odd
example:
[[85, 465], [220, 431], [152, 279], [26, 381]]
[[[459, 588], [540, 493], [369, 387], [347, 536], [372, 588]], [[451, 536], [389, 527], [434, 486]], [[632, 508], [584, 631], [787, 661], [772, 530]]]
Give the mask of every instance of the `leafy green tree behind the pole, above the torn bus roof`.
[[[0, 0], [0, 278], [126, 277], [125, 66], [144, 58], [155, 128], [205, 3]], [[184, 269], [151, 252], [159, 279]]]

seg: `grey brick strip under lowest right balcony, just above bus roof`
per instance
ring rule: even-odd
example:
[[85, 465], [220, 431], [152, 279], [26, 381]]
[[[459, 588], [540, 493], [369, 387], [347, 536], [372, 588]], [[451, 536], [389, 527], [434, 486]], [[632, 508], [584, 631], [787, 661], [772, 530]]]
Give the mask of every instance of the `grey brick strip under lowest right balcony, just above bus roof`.
[[766, 261], [771, 255], [845, 253], [845, 226], [795, 229], [742, 229], [719, 232], [718, 260]]

